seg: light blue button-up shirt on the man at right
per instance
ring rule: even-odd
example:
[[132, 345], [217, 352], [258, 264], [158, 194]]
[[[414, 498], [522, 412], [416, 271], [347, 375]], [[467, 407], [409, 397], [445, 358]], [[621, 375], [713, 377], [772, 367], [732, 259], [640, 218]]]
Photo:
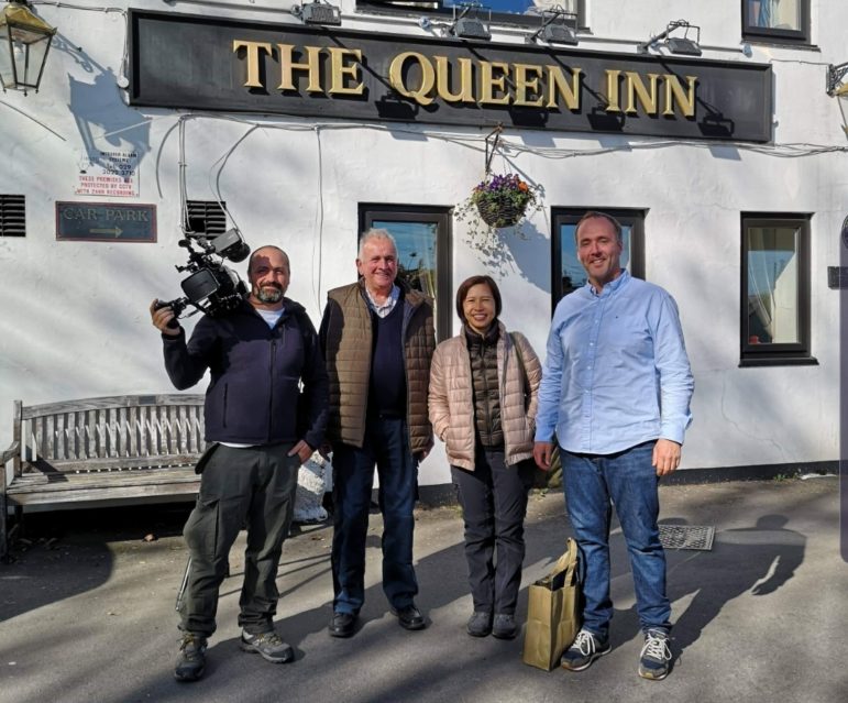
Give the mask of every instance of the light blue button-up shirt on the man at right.
[[627, 271], [598, 294], [586, 284], [560, 300], [548, 337], [536, 441], [612, 454], [683, 443], [694, 389], [674, 299]]

